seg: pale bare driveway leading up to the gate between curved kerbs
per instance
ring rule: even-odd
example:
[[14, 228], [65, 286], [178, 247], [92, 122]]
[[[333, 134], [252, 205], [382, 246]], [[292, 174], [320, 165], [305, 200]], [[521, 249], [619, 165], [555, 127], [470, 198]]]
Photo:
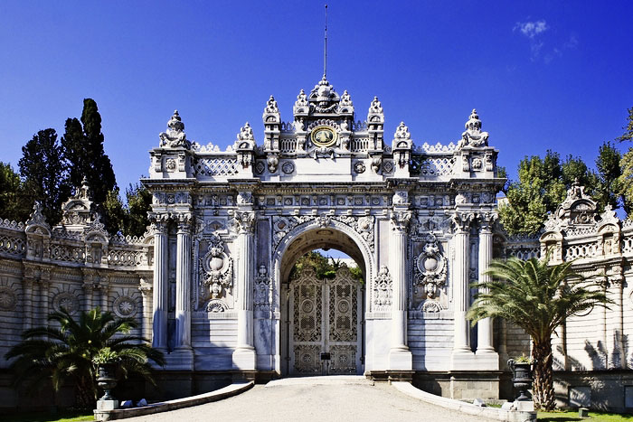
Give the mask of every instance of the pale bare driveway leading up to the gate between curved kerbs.
[[476, 422], [490, 419], [439, 408], [402, 394], [386, 383], [375, 385], [284, 385], [249, 391], [194, 408], [145, 417], [130, 422], [232, 421], [432, 421]]

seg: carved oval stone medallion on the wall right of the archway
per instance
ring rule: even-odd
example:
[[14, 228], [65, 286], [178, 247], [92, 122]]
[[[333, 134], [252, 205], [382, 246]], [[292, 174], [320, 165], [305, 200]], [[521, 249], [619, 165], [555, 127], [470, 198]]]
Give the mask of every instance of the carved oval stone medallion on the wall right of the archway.
[[435, 235], [429, 234], [422, 252], [415, 260], [415, 286], [423, 287], [428, 298], [436, 297], [438, 289], [446, 284], [447, 267], [447, 258], [439, 251], [438, 240]]

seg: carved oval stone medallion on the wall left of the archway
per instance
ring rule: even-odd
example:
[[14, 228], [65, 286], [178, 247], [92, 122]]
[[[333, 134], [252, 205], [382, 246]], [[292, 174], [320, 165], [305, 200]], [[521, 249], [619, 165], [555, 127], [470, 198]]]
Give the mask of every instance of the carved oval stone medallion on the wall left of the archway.
[[201, 259], [200, 279], [204, 286], [209, 286], [212, 299], [224, 296], [225, 289], [233, 285], [233, 259], [224, 253], [222, 239], [213, 234], [209, 240], [209, 248]]

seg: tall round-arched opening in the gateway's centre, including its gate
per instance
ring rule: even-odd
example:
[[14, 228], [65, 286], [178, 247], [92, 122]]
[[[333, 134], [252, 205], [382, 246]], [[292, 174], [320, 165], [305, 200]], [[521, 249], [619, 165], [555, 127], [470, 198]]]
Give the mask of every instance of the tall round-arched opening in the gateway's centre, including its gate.
[[366, 267], [338, 230], [308, 230], [288, 245], [279, 268], [283, 375], [364, 372]]

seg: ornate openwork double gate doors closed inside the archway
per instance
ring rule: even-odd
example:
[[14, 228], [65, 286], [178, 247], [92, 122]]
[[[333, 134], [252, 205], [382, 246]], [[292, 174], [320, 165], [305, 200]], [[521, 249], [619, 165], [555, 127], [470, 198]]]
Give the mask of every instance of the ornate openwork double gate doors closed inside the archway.
[[362, 300], [361, 284], [347, 267], [339, 268], [332, 280], [319, 280], [307, 268], [290, 283], [290, 374], [363, 370]]

